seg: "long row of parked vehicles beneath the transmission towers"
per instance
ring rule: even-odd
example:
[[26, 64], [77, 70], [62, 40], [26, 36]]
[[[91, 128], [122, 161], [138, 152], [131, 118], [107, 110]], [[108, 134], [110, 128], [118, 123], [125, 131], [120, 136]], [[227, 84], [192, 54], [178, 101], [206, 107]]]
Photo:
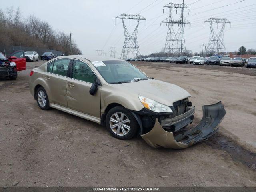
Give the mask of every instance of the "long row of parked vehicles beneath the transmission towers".
[[247, 62], [246, 67], [256, 67], [256, 58], [251, 57], [249, 59], [242, 57], [230, 58], [229, 56], [180, 56], [180, 57], [148, 57], [141, 59], [127, 59], [127, 61], [151, 61], [151, 62], [169, 62], [169, 63], [190, 63], [190, 64], [208, 64], [208, 65], [223, 65], [223, 66], [240, 66], [243, 67]]

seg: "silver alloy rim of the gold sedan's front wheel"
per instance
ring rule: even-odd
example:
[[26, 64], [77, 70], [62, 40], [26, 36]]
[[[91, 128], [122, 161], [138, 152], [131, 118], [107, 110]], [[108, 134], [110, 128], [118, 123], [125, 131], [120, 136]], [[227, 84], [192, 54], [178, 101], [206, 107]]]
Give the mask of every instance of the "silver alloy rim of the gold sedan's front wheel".
[[112, 114], [109, 120], [109, 125], [111, 130], [119, 136], [128, 134], [131, 128], [129, 118], [122, 112]]

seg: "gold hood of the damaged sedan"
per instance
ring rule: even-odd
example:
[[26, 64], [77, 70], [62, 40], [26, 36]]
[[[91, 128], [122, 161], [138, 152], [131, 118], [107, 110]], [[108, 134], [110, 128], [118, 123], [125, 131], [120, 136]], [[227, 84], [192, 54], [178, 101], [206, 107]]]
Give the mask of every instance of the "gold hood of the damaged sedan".
[[183, 88], [155, 79], [113, 84], [113, 86], [116, 86], [120, 91], [132, 93], [134, 96], [145, 96], [167, 106], [172, 106], [178, 100], [191, 97]]

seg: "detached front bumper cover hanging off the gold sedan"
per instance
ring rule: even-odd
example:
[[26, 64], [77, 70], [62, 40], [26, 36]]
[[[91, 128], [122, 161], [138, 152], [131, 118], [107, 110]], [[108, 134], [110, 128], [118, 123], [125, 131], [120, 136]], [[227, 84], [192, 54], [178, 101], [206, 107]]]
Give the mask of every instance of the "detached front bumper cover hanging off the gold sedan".
[[195, 128], [174, 136], [173, 132], [164, 130], [156, 119], [152, 130], [141, 135], [141, 137], [154, 148], [187, 148], [195, 143], [207, 140], [216, 133], [218, 131], [218, 125], [225, 114], [226, 111], [221, 101], [212, 105], [204, 105], [203, 118]]

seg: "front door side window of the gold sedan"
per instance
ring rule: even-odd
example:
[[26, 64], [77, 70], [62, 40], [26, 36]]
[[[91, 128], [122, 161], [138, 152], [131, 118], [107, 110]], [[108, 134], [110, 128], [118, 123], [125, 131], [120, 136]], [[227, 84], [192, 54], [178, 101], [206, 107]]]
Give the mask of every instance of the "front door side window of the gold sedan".
[[96, 79], [96, 75], [91, 68], [85, 62], [79, 60], [73, 61], [71, 77], [89, 83], [94, 83]]

